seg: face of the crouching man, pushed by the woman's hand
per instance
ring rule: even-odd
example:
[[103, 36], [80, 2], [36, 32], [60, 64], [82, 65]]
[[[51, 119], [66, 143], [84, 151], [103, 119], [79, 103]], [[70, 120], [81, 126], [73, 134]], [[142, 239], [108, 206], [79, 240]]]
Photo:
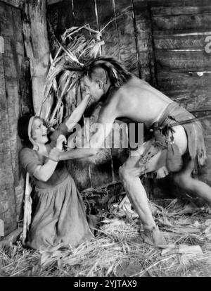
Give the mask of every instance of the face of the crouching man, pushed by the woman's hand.
[[85, 76], [82, 79], [82, 86], [86, 94], [90, 94], [94, 102], [99, 101], [103, 96], [103, 89], [98, 82], [92, 81], [89, 77]]

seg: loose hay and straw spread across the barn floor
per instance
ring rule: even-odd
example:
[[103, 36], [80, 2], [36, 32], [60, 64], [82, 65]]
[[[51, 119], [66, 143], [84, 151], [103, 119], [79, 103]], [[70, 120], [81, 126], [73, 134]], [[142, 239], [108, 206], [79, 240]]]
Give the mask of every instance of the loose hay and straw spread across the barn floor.
[[167, 242], [176, 243], [177, 249], [144, 244], [138, 218], [113, 204], [110, 213], [104, 213], [96, 238], [77, 249], [35, 252], [23, 249], [20, 242], [5, 247], [0, 252], [0, 275], [210, 276], [211, 216], [205, 207], [184, 206], [177, 199], [165, 209], [151, 206]]

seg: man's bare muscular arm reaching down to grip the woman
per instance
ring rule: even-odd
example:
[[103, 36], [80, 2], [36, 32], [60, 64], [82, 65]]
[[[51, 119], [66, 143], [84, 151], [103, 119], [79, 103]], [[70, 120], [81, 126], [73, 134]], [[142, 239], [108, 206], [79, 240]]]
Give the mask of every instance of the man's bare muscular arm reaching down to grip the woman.
[[105, 107], [102, 107], [98, 117], [98, 123], [100, 126], [94, 135], [92, 135], [90, 141], [87, 142], [87, 144], [84, 144], [83, 148], [72, 149], [65, 153], [56, 153], [52, 150], [50, 156], [52, 155], [53, 159], [56, 159], [55, 156], [57, 156], [57, 159], [61, 161], [68, 159], [83, 159], [96, 155], [101, 149], [104, 140], [111, 132], [116, 117], [116, 109], [113, 104], [108, 104]]

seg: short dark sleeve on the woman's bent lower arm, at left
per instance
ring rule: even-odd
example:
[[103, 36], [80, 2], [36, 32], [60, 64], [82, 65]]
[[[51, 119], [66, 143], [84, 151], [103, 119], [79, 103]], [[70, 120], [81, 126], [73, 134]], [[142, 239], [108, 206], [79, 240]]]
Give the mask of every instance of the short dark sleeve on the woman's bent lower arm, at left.
[[29, 172], [30, 175], [34, 175], [37, 166], [43, 166], [33, 149], [21, 149], [19, 159], [25, 171]]

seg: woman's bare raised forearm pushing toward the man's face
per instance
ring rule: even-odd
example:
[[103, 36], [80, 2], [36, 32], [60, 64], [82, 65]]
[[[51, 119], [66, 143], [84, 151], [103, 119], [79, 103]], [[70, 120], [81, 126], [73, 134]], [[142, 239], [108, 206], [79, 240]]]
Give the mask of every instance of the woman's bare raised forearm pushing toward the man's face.
[[87, 108], [87, 105], [89, 104], [91, 97], [89, 94], [87, 94], [84, 99], [81, 101], [79, 106], [76, 107], [74, 111], [72, 111], [72, 114], [70, 117], [65, 121], [65, 125], [67, 125], [68, 130], [72, 130], [72, 128], [75, 127], [75, 125], [79, 122], [79, 120], [82, 118], [82, 115]]

